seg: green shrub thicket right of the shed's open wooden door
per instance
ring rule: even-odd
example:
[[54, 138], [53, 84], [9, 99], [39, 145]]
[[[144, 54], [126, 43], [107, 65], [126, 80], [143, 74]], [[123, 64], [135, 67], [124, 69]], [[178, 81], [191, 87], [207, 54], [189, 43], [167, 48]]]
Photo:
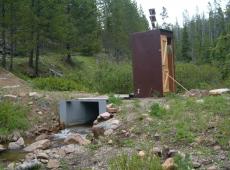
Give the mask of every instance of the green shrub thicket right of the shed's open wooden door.
[[[187, 89], [214, 88], [221, 83], [221, 73], [211, 65], [179, 63], [176, 65], [176, 79]], [[182, 90], [177, 87], [178, 91]]]

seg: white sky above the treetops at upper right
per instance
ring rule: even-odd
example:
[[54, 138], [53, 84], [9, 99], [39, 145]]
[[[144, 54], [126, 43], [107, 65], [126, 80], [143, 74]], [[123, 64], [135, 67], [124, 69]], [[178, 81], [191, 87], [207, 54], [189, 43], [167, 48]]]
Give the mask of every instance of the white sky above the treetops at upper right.
[[[161, 23], [160, 13], [162, 12], [162, 7], [166, 7], [169, 23], [175, 24], [176, 18], [180, 25], [183, 23], [183, 11], [188, 10], [189, 16], [191, 17], [196, 13], [197, 8], [199, 13], [207, 13], [208, 2], [213, 0], [136, 0], [139, 5], [142, 6], [146, 17], [149, 19], [149, 8], [156, 9], [157, 22]], [[225, 6], [227, 0], [222, 0], [223, 7]]]

